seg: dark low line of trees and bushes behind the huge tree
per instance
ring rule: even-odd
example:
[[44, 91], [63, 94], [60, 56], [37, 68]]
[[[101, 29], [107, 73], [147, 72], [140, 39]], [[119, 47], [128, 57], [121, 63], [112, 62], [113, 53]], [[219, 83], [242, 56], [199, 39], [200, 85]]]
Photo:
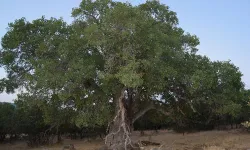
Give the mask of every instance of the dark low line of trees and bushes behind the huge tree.
[[[194, 110], [183, 111], [180, 116], [165, 115], [156, 110], [150, 110], [133, 124], [137, 131], [173, 129], [176, 132], [202, 131], [213, 129], [236, 128], [237, 125], [248, 120], [250, 97], [249, 90], [241, 91], [238, 110], [234, 108], [227, 113], [210, 112], [210, 106], [202, 105]], [[52, 104], [33, 99], [28, 95], [19, 95], [15, 103], [0, 103], [0, 142], [25, 140], [31, 147], [62, 142], [62, 137], [70, 139], [104, 138], [107, 135], [107, 124], [96, 123], [95, 118], [88, 118], [86, 122], [79, 121], [81, 111], [71, 106], [57, 103]], [[219, 103], [220, 101], [218, 101]], [[235, 104], [235, 105], [236, 105]], [[218, 104], [217, 104], [218, 105]], [[93, 105], [94, 107], [95, 105]], [[223, 106], [227, 107], [227, 106]], [[94, 109], [94, 108], [93, 108]], [[199, 109], [199, 111], [198, 111]], [[226, 108], [223, 108], [226, 109]], [[237, 113], [234, 114], [234, 111]], [[93, 114], [93, 117], [95, 115]], [[81, 118], [80, 118], [81, 119]], [[239, 126], [238, 126], [239, 127]]]

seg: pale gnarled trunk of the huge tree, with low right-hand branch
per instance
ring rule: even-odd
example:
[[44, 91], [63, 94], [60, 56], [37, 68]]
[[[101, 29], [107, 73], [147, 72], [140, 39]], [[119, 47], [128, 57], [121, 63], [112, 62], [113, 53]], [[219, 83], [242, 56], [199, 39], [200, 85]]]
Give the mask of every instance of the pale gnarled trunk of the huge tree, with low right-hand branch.
[[[125, 90], [127, 95], [125, 96]], [[138, 144], [132, 142], [130, 135], [133, 130], [133, 123], [151, 109], [157, 109], [164, 115], [169, 115], [162, 107], [149, 101], [142, 110], [134, 113], [133, 106], [136, 97], [132, 96], [133, 89], [123, 89], [116, 97], [116, 116], [109, 125], [109, 134], [106, 136], [105, 144], [110, 150], [137, 150]], [[160, 106], [160, 105], [159, 105]]]

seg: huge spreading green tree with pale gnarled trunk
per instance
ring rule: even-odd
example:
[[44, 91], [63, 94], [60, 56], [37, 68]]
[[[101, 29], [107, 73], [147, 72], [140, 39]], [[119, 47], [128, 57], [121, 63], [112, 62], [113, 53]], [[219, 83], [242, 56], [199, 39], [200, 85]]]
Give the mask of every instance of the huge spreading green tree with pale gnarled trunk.
[[45, 17], [9, 24], [1, 43], [7, 72], [1, 91], [23, 87], [52, 104], [48, 112], [73, 106], [79, 126], [108, 124], [107, 146], [124, 149], [132, 145], [133, 123], [147, 111], [182, 114], [211, 89], [210, 72], [197, 71], [211, 68], [195, 55], [198, 38], [178, 26], [168, 6], [83, 0], [72, 16], [71, 24]]

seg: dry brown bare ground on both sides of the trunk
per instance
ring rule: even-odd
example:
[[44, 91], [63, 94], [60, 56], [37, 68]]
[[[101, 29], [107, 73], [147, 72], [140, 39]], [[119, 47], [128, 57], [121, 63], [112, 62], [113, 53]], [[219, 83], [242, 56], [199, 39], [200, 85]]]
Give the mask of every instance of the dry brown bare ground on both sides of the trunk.
[[[250, 150], [250, 133], [237, 130], [196, 132], [184, 136], [167, 130], [159, 131], [157, 134], [153, 131], [146, 131], [144, 136], [140, 136], [139, 132], [134, 132], [132, 139], [161, 143], [162, 150]], [[33, 148], [32, 150], [62, 150], [63, 145], [66, 144], [74, 144], [76, 150], [96, 150], [104, 143], [102, 140], [87, 142], [86, 140], [65, 139], [62, 145]], [[0, 145], [0, 150], [28, 149], [24, 142]], [[144, 150], [150, 150], [150, 147], [145, 147]]]

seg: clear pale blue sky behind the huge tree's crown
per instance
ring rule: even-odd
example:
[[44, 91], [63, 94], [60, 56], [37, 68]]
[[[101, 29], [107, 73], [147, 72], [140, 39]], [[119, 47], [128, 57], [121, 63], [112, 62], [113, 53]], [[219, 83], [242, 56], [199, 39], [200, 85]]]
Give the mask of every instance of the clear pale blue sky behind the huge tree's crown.
[[[123, 0], [125, 1], [125, 0]], [[133, 4], [145, 0], [129, 0]], [[45, 15], [63, 17], [71, 22], [71, 10], [81, 0], [1, 0], [0, 37], [9, 22], [21, 17], [33, 20]], [[177, 12], [180, 26], [200, 38], [199, 54], [211, 60], [231, 60], [244, 74], [250, 88], [250, 1], [249, 0], [160, 0]], [[0, 78], [4, 77], [0, 69]], [[12, 101], [15, 95], [0, 94], [0, 101]]]

